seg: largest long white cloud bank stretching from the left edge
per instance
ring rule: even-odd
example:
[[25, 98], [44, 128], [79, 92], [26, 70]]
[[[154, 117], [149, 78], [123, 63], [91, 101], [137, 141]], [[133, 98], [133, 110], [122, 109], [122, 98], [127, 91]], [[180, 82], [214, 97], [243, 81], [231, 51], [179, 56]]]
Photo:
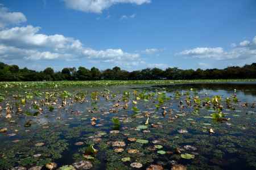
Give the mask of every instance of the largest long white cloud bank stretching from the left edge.
[[86, 48], [72, 37], [44, 35], [40, 27], [14, 27], [0, 31], [0, 59], [89, 59], [118, 65], [142, 63], [139, 54], [127, 53], [122, 49], [95, 50]]

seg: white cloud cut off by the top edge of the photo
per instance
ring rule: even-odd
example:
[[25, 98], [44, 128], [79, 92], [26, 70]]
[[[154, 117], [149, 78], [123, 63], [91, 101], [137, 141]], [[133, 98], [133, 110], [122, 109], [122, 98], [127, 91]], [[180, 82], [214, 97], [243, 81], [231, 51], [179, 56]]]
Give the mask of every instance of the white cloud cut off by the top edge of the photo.
[[101, 13], [106, 8], [116, 5], [118, 3], [132, 3], [135, 5], [142, 5], [143, 3], [150, 3], [151, 0], [63, 0], [65, 5], [73, 10], [83, 12]]

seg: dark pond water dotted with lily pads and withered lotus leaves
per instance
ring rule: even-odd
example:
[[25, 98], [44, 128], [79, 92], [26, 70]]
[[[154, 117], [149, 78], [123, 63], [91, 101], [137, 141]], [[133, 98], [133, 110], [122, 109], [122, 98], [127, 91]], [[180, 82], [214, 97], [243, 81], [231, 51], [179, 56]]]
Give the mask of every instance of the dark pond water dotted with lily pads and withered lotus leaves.
[[0, 169], [256, 169], [256, 82], [0, 94]]

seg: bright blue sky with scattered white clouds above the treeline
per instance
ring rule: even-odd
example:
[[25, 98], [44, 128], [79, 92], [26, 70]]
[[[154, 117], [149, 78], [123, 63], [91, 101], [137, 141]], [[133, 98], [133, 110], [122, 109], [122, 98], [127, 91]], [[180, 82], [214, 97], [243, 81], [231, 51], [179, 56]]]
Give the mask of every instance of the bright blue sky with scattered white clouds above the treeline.
[[223, 69], [256, 62], [254, 0], [0, 0], [0, 62]]

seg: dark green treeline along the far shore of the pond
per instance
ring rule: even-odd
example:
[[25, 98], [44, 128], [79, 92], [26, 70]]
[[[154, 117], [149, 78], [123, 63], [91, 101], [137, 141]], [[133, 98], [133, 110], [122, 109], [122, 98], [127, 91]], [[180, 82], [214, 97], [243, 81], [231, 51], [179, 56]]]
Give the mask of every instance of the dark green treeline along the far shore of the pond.
[[96, 67], [86, 69], [64, 68], [55, 72], [51, 67], [43, 71], [20, 69], [17, 65], [0, 62], [0, 81], [58, 81], [58, 80], [157, 80], [157, 79], [246, 79], [256, 78], [256, 63], [243, 67], [233, 66], [225, 69], [181, 70], [177, 67], [161, 70], [143, 69], [137, 71], [121, 70], [120, 67], [99, 70]]

